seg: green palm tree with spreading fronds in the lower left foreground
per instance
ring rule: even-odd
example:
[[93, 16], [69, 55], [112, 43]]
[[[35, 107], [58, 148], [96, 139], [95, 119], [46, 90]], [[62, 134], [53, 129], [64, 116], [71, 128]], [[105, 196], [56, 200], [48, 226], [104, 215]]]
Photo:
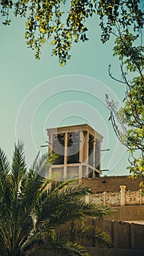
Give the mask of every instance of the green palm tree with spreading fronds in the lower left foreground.
[[[52, 182], [37, 173], [48, 170], [48, 156], [26, 167], [23, 143], [15, 145], [12, 165], [0, 150], [0, 256], [28, 256], [38, 249], [61, 255], [83, 255], [83, 238], [110, 243], [110, 236], [95, 227], [69, 224], [87, 217], [104, 218], [112, 213], [107, 206], [86, 204], [91, 193], [75, 178]], [[65, 225], [65, 228], [63, 227]]]

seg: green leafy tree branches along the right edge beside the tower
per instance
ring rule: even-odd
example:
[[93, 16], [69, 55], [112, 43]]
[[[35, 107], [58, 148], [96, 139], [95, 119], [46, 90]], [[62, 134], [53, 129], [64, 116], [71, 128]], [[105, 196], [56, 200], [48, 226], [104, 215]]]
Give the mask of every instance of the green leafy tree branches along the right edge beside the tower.
[[[126, 84], [126, 94], [124, 106], [120, 109], [117, 103], [110, 101], [108, 95], [106, 102], [115, 134], [129, 151], [130, 177], [142, 178], [140, 187], [143, 188], [144, 195], [144, 47], [142, 42], [137, 45], [137, 37], [129, 31], [127, 34], [119, 28], [117, 31], [113, 49], [114, 55], [121, 61], [119, 82]], [[113, 78], [110, 70], [109, 73]]]

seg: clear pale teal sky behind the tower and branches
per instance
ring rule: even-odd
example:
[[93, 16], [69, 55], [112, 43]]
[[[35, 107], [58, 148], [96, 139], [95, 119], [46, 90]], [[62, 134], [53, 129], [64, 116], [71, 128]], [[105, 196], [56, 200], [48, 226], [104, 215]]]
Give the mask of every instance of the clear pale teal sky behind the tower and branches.
[[113, 74], [119, 74], [113, 40], [102, 45], [99, 27], [94, 23], [88, 22], [89, 40], [73, 45], [66, 67], [50, 56], [48, 44], [42, 49], [41, 59], [34, 59], [23, 37], [24, 20], [12, 18], [11, 26], [0, 25], [0, 146], [10, 159], [18, 138], [25, 143], [30, 165], [37, 151], [47, 150], [39, 147], [47, 138], [46, 128], [88, 123], [104, 137], [102, 148], [110, 148], [102, 153], [102, 169], [109, 169], [104, 174], [128, 173], [125, 148], [108, 122], [110, 114], [105, 105], [105, 93], [122, 101], [125, 88], [107, 72], [111, 64]]

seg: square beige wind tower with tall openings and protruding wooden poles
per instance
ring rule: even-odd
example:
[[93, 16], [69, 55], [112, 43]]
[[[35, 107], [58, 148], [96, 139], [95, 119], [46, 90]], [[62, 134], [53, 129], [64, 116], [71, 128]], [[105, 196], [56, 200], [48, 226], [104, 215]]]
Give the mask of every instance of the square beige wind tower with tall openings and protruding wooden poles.
[[102, 135], [88, 124], [51, 128], [47, 132], [48, 152], [57, 154], [49, 173], [58, 172], [58, 178], [100, 176]]

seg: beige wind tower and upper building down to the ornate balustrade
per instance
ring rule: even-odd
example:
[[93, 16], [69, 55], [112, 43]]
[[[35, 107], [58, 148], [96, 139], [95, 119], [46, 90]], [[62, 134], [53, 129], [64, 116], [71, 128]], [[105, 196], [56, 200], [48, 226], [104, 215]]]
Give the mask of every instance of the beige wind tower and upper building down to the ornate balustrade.
[[[94, 195], [87, 202], [109, 206], [142, 206], [144, 197], [140, 180], [132, 181], [126, 176], [101, 175], [102, 135], [88, 124], [47, 129], [49, 154], [57, 157], [49, 168], [49, 175], [56, 178], [76, 176], [83, 184], [89, 184]], [[127, 218], [127, 217], [126, 217]]]

